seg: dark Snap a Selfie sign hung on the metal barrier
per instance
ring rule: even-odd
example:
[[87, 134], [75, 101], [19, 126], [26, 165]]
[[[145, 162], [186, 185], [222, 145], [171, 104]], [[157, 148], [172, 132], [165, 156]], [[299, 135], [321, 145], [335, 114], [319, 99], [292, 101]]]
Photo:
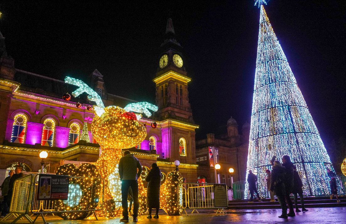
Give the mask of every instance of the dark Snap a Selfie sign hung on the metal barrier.
[[40, 174], [38, 178], [37, 200], [67, 200], [69, 176]]

